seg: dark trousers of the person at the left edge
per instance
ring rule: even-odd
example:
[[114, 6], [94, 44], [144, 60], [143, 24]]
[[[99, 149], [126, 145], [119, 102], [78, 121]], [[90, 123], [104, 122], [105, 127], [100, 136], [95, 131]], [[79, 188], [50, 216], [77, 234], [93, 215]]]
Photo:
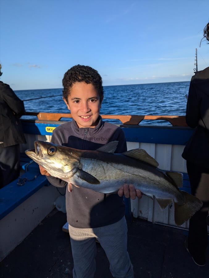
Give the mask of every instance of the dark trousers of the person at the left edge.
[[0, 148], [0, 188], [19, 177], [19, 161], [19, 145]]

